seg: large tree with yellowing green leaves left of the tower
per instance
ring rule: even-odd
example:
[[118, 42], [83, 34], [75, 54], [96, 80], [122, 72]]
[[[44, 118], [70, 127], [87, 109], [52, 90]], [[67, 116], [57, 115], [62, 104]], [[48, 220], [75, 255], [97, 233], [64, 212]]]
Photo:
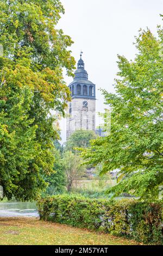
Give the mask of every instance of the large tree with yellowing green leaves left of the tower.
[[72, 75], [70, 36], [56, 25], [59, 0], [0, 3], [0, 185], [8, 198], [35, 199], [53, 172], [51, 109], [64, 115], [70, 91], [62, 69]]

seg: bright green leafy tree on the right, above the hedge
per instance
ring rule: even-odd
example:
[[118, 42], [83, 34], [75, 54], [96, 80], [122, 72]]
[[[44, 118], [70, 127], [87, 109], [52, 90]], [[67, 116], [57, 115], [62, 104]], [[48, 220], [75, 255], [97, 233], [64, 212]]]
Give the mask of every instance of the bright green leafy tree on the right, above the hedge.
[[111, 134], [97, 138], [82, 154], [89, 162], [102, 163], [101, 174], [120, 169], [117, 196], [133, 190], [143, 198], [158, 197], [163, 183], [163, 31], [159, 39], [147, 31], [136, 38], [134, 61], [118, 56], [116, 94], [102, 90], [110, 105]]

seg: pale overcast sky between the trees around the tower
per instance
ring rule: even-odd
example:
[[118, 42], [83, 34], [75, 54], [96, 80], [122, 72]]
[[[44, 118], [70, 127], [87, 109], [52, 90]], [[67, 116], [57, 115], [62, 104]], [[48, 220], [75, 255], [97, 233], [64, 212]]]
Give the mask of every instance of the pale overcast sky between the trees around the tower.
[[[114, 92], [117, 54], [128, 59], [135, 56], [134, 36], [139, 28], [148, 27], [156, 35], [162, 25], [163, 0], [61, 0], [65, 15], [58, 27], [70, 35], [74, 44], [72, 55], [78, 62], [83, 51], [85, 70], [96, 84], [96, 111], [104, 111], [104, 100], [99, 88]], [[67, 85], [71, 77], [65, 76]], [[99, 124], [98, 115], [96, 125]], [[62, 120], [62, 142], [66, 139], [66, 122]]]

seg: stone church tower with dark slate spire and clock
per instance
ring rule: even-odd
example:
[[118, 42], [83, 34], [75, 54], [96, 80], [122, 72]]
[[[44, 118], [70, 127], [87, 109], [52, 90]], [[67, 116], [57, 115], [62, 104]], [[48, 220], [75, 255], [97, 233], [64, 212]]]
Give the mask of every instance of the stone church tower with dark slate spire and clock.
[[76, 130], [95, 131], [96, 127], [96, 86], [88, 80], [82, 52], [74, 75], [73, 82], [68, 86], [72, 101], [68, 106], [67, 138]]

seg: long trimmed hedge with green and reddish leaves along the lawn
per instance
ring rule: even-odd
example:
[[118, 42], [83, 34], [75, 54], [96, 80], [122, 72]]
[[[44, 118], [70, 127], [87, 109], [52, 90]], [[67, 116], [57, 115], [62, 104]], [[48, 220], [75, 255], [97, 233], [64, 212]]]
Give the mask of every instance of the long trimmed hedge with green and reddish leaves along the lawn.
[[97, 200], [58, 195], [38, 201], [42, 220], [74, 227], [100, 229], [146, 244], [161, 245], [162, 204], [136, 200]]

